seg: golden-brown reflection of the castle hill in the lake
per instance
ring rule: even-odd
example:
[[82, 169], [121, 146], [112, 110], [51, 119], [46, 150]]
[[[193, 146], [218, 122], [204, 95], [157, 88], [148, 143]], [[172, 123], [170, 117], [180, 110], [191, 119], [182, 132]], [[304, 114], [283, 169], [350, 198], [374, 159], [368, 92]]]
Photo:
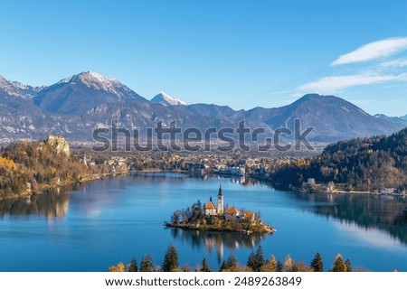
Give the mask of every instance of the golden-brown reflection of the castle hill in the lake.
[[51, 218], [62, 218], [68, 212], [70, 195], [62, 191], [50, 191], [35, 194], [29, 198], [0, 202], [0, 216], [37, 215]]

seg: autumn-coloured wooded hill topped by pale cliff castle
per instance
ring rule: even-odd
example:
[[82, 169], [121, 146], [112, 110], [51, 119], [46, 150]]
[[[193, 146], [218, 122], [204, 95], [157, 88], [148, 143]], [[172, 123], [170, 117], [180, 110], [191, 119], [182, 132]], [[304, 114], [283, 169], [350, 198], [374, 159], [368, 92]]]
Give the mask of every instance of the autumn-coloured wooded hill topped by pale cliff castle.
[[59, 136], [19, 142], [0, 151], [0, 201], [88, 179], [93, 173]]

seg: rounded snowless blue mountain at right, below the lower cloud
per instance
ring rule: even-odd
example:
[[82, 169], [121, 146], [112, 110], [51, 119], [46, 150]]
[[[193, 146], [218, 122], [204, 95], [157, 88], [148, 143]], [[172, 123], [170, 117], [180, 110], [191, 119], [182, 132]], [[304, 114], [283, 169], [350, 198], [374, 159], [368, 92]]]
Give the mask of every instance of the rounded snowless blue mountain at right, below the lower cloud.
[[335, 96], [308, 94], [285, 107], [266, 109], [263, 112], [259, 108], [253, 110], [251, 114], [262, 117], [274, 129], [291, 128], [294, 119], [299, 118], [303, 127], [314, 127], [310, 134], [310, 139], [314, 141], [332, 142], [358, 136], [374, 136], [392, 132], [397, 127], [393, 123], [372, 117], [362, 108]]

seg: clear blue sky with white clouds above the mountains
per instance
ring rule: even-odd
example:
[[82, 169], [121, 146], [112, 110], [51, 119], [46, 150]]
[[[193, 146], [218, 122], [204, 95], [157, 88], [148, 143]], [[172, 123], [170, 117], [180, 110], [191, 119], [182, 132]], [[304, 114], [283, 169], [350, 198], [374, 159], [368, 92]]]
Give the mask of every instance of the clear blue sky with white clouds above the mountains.
[[152, 98], [280, 107], [308, 92], [407, 114], [407, 1], [2, 1], [0, 75], [92, 70]]

